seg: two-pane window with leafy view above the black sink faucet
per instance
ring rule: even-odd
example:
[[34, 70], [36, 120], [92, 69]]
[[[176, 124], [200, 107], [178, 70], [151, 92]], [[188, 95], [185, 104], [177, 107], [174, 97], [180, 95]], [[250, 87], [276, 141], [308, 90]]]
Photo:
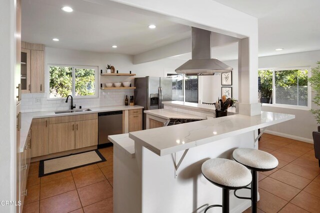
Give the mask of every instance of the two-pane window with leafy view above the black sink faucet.
[[49, 66], [49, 98], [97, 97], [97, 67]]

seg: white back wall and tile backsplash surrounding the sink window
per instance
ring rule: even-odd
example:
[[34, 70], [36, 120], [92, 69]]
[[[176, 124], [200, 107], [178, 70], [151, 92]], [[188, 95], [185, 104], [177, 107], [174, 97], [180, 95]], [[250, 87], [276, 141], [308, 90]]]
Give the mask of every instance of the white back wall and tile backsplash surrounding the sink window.
[[[98, 53], [88, 51], [78, 51], [70, 49], [60, 49], [45, 47], [45, 82], [44, 93], [23, 94], [22, 112], [54, 111], [68, 109], [70, 103], [65, 100], [48, 100], [48, 64], [69, 64], [69, 65], [89, 65], [97, 66], [98, 73], [102, 69], [105, 71], [106, 64], [111, 64], [119, 73], [135, 73], [135, 77], [159, 76], [163, 77], [167, 72], [174, 72], [174, 69], [184, 63], [183, 60], [162, 59], [153, 62], [133, 65], [133, 57], [126, 54]], [[100, 76], [98, 74], [98, 88], [100, 83], [131, 81], [134, 85], [134, 77], [128, 76]], [[73, 99], [76, 107], [98, 107], [124, 105], [125, 96], [133, 95], [133, 90], [100, 90], [98, 98]], [[36, 100], [39, 100], [37, 103]]]

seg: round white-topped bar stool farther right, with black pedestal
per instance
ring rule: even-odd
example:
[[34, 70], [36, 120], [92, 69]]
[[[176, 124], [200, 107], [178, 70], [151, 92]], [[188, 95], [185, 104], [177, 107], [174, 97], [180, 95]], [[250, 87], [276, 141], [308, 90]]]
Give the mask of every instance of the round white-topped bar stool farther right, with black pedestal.
[[238, 197], [239, 199], [251, 200], [251, 213], [257, 212], [257, 172], [266, 172], [275, 169], [278, 166], [278, 160], [271, 154], [250, 148], [238, 148], [232, 153], [233, 159], [244, 165], [246, 168], [251, 170], [252, 174], [252, 184], [251, 188], [246, 188], [251, 190], [251, 198]]

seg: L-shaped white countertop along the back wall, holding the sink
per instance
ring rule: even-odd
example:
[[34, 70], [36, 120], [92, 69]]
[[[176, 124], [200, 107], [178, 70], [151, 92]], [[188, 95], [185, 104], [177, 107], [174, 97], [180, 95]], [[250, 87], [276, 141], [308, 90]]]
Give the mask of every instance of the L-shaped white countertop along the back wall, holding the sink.
[[98, 113], [98, 112], [111, 112], [118, 110], [131, 110], [131, 109], [143, 109], [142, 106], [134, 105], [134, 106], [106, 106], [106, 107], [90, 107], [92, 111], [86, 112], [72, 112], [72, 113], [62, 113], [62, 114], [54, 114], [54, 111], [41, 111], [41, 112], [27, 112], [21, 113], [21, 130], [20, 130], [20, 147], [19, 151], [23, 152], [24, 145], [26, 143], [26, 137], [31, 125], [32, 119], [35, 118], [48, 118], [48, 117], [60, 117], [60, 116], [68, 116], [68, 115], [79, 115], [79, 114], [90, 114], [90, 113]]

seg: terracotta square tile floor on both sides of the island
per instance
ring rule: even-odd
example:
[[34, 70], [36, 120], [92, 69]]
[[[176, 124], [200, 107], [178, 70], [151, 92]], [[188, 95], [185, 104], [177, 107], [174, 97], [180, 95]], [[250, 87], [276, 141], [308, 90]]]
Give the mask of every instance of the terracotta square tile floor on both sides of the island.
[[[313, 144], [263, 134], [259, 149], [274, 155], [279, 165], [259, 173], [258, 212], [319, 213], [320, 168]], [[112, 147], [100, 152], [106, 162], [42, 178], [38, 163], [32, 163], [23, 213], [112, 213]]]

